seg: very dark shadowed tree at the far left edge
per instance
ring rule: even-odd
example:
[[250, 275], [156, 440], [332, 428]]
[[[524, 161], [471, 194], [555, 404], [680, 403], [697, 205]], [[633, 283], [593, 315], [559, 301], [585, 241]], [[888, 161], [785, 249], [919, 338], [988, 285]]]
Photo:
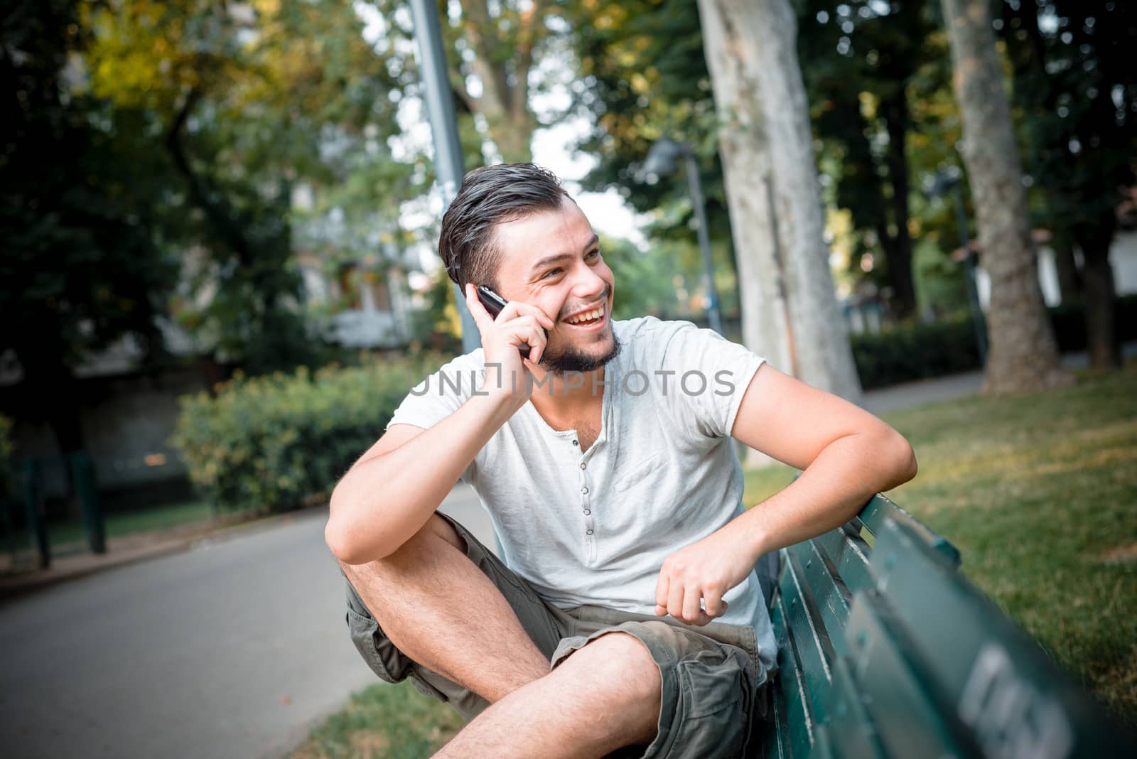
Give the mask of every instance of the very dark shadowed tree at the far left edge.
[[155, 317], [176, 273], [156, 233], [148, 125], [70, 90], [80, 20], [74, 2], [25, 0], [0, 24], [0, 351], [23, 368], [22, 414], [65, 453], [84, 444], [74, 369], [124, 337], [160, 355]]

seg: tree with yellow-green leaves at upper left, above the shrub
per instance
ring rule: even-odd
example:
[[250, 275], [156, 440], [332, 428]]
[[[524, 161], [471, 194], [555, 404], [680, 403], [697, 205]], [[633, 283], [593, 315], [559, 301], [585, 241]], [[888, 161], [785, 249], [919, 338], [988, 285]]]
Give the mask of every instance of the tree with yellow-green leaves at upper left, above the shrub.
[[183, 217], [167, 227], [185, 264], [179, 322], [202, 353], [251, 373], [319, 360], [299, 307], [293, 189], [331, 189], [340, 216], [366, 205], [368, 222], [397, 226], [416, 183], [385, 144], [388, 95], [408, 74], [332, 0], [84, 8], [90, 93], [161, 135], [167, 216]]

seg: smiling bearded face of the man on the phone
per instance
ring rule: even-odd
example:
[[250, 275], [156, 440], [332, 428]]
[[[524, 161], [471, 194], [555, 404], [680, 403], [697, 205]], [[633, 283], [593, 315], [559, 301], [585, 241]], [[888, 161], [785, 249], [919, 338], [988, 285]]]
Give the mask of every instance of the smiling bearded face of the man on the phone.
[[591, 372], [612, 360], [620, 349], [611, 318], [615, 283], [576, 203], [565, 199], [558, 210], [499, 224], [493, 233], [499, 294], [554, 320], [541, 366], [554, 374]]

